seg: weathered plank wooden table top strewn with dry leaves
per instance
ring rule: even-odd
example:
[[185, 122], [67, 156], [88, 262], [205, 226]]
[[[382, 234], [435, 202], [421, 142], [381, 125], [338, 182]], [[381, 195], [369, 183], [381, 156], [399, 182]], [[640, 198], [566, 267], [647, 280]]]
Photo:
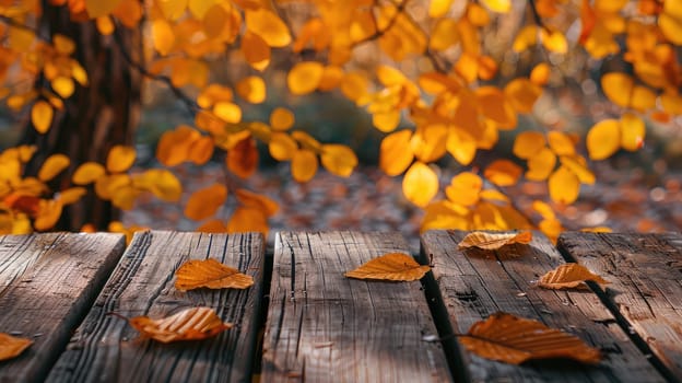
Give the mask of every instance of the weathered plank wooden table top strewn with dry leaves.
[[[0, 382], [678, 382], [682, 381], [682, 235], [564, 233], [556, 246], [458, 249], [458, 231], [421, 237], [421, 281], [343, 272], [389, 252], [397, 233], [151, 231], [0, 236], [0, 333], [30, 337], [0, 362]], [[187, 259], [215, 258], [254, 277], [247, 290], [174, 288]], [[536, 286], [577, 262], [610, 281]], [[201, 341], [138, 338], [126, 321], [213, 307], [235, 326]], [[511, 365], [465, 350], [456, 334], [495, 312], [534, 318], [602, 350], [597, 365]]]

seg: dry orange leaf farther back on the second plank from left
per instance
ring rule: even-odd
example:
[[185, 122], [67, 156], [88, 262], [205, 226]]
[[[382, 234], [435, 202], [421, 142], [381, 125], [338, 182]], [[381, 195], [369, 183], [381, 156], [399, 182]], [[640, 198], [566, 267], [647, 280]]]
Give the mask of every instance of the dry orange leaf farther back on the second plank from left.
[[188, 260], [175, 271], [175, 288], [179, 291], [199, 288], [246, 289], [254, 285], [254, 277], [213, 258]]

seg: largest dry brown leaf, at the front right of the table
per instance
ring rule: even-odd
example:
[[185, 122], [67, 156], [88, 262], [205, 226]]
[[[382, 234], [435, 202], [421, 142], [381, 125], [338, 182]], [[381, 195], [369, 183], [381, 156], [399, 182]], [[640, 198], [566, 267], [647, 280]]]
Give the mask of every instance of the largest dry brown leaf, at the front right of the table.
[[550, 328], [533, 320], [495, 313], [477, 322], [461, 344], [479, 357], [520, 364], [531, 359], [568, 358], [598, 363], [601, 353], [571, 334]]

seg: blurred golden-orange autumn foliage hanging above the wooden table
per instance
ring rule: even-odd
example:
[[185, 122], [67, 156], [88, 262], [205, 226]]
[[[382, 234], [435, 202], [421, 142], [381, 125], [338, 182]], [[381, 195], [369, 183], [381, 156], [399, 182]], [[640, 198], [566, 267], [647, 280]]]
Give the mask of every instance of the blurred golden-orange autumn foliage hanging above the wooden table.
[[[680, 1], [0, 0], [0, 97], [38, 135], [60, 116], [78, 120], [83, 111], [64, 105], [95, 76], [74, 57], [74, 37], [45, 32], [55, 22], [47, 8], [96, 30], [129, 70], [169, 86], [193, 120], [165, 132], [155, 152], [161, 166], [143, 171], [131, 170], [130, 142], [110, 144], [99, 162], [54, 153], [35, 172], [26, 164], [36, 146], [4, 150], [0, 233], [50, 230], [86, 196], [125, 210], [149, 193], [183, 204], [199, 231], [267, 231], [278, 206], [263, 190], [216, 182], [183, 199], [174, 167], [221, 158], [232, 176], [247, 178], [264, 147], [291, 164], [297, 182], [320, 165], [350, 175], [353, 151], [296, 129], [284, 105], [263, 120], [243, 118], [245, 103], [267, 100], [267, 79], [278, 70], [286, 71], [292, 96], [337, 92], [371, 114], [385, 135], [379, 166], [402, 175], [405, 198], [425, 210], [424, 230], [532, 228], [504, 194], [526, 178], [548, 184], [548, 199], [533, 208], [539, 228], [555, 237], [563, 228], [548, 202], [574, 202], [580, 185], [596, 182], [593, 161], [638, 150], [647, 121], [675, 124], [682, 114]], [[142, 37], [139, 50], [130, 31]], [[242, 74], [216, 82], [220, 57], [245, 67]], [[571, 76], [568, 61], [597, 73], [613, 107], [585, 137], [561, 126], [518, 129], [519, 115], [531, 115], [543, 92]], [[480, 162], [480, 151], [495, 153], [501, 131], [515, 129], [513, 156]], [[461, 169], [444, 182], [438, 167], [448, 158]], [[236, 206], [227, 221], [214, 217], [224, 204]]]

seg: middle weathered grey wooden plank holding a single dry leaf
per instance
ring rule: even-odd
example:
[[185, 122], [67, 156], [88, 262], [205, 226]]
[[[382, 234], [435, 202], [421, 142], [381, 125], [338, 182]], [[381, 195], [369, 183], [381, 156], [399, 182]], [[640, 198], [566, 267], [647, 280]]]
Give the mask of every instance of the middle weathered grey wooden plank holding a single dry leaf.
[[263, 382], [450, 380], [418, 281], [349, 279], [388, 252], [397, 233], [279, 233], [263, 339]]

